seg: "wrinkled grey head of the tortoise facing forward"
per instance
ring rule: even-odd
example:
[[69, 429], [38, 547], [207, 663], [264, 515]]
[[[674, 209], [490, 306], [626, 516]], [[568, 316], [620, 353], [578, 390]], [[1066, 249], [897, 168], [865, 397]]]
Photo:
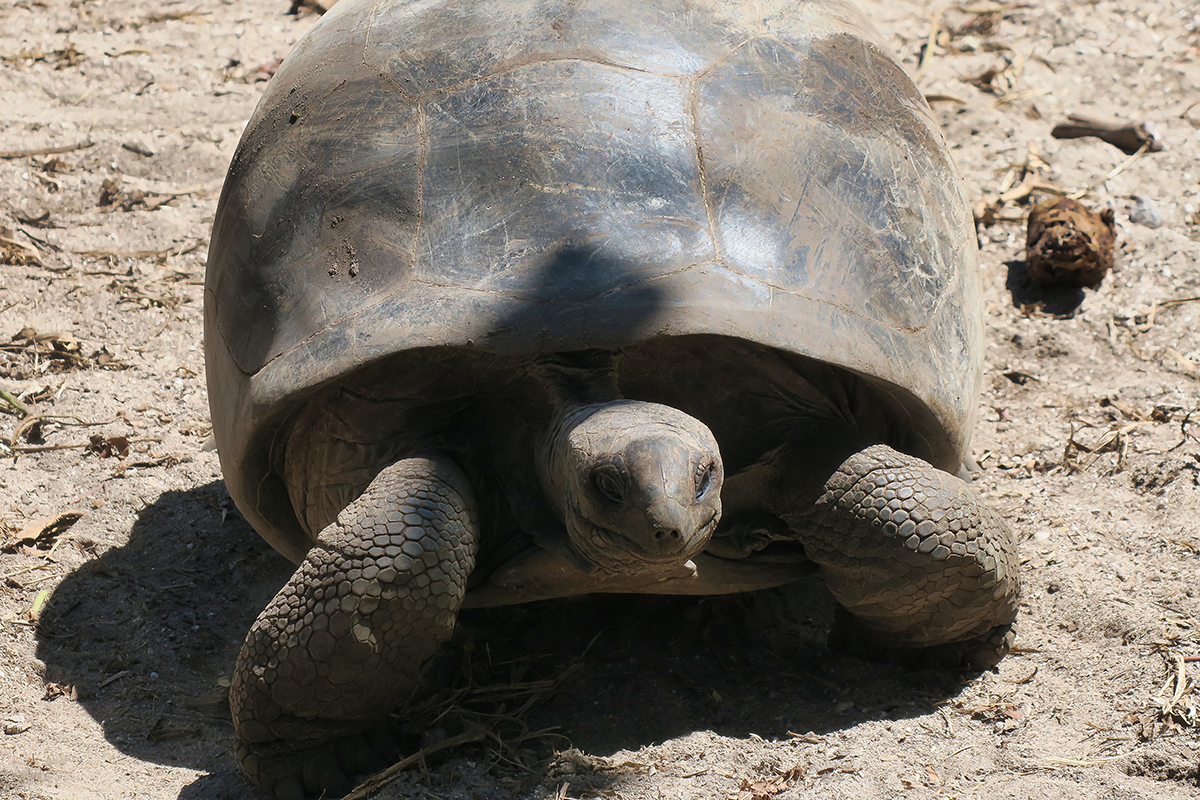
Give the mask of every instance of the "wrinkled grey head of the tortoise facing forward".
[[721, 518], [716, 439], [668, 405], [620, 399], [566, 409], [542, 453], [542, 488], [575, 549], [602, 570], [683, 564]]

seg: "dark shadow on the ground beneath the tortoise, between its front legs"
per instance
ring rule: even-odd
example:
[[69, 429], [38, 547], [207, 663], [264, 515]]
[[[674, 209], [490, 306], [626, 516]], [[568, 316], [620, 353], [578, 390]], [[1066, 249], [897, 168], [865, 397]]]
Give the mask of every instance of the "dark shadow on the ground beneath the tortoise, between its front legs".
[[599, 756], [700, 730], [822, 734], [926, 714], [961, 691], [948, 670], [830, 651], [834, 607], [814, 578], [713, 597], [595, 595], [480, 610], [468, 624], [488, 632], [493, 657], [553, 652], [545, 676], [556, 658], [578, 660], [530, 726], [558, 727]]

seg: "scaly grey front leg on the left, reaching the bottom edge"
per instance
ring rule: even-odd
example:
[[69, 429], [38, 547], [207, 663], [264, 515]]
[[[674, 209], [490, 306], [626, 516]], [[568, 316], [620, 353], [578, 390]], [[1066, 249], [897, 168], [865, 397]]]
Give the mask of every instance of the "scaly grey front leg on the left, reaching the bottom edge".
[[251, 627], [229, 693], [238, 760], [280, 800], [343, 794], [384, 722], [450, 638], [478, 527], [443, 458], [386, 468]]

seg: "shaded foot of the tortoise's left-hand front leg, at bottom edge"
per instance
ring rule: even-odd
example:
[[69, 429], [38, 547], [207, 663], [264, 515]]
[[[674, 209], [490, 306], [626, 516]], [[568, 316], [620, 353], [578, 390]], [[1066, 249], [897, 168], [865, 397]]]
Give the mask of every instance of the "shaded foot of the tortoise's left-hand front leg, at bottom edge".
[[236, 754], [246, 776], [275, 800], [331, 800], [354, 789], [355, 776], [395, 762], [398, 750], [386, 729], [374, 728], [302, 748], [278, 740], [239, 740]]

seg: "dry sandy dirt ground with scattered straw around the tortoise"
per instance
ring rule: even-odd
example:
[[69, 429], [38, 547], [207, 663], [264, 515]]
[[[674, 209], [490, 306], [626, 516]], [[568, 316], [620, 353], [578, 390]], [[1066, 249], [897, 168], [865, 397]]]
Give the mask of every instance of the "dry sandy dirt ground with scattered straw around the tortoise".
[[[997, 217], [974, 457], [1022, 547], [1018, 651], [965, 680], [836, 656], [820, 584], [466, 614], [424, 744], [472, 715], [503, 744], [382, 796], [1200, 796], [1198, 10], [980, 2], [931, 35], [940, 5], [866, 5]], [[0, 160], [0, 389], [28, 409], [0, 401], [0, 795], [256, 796], [223, 687], [289, 567], [202, 450], [200, 284], [259, 78], [316, 19], [287, 11], [0, 6], [0, 151], [67, 149]], [[1165, 149], [1051, 138], [1072, 113]], [[996, 201], [1026, 179], [1115, 210], [1098, 290], [1030, 285], [1030, 198]]]

